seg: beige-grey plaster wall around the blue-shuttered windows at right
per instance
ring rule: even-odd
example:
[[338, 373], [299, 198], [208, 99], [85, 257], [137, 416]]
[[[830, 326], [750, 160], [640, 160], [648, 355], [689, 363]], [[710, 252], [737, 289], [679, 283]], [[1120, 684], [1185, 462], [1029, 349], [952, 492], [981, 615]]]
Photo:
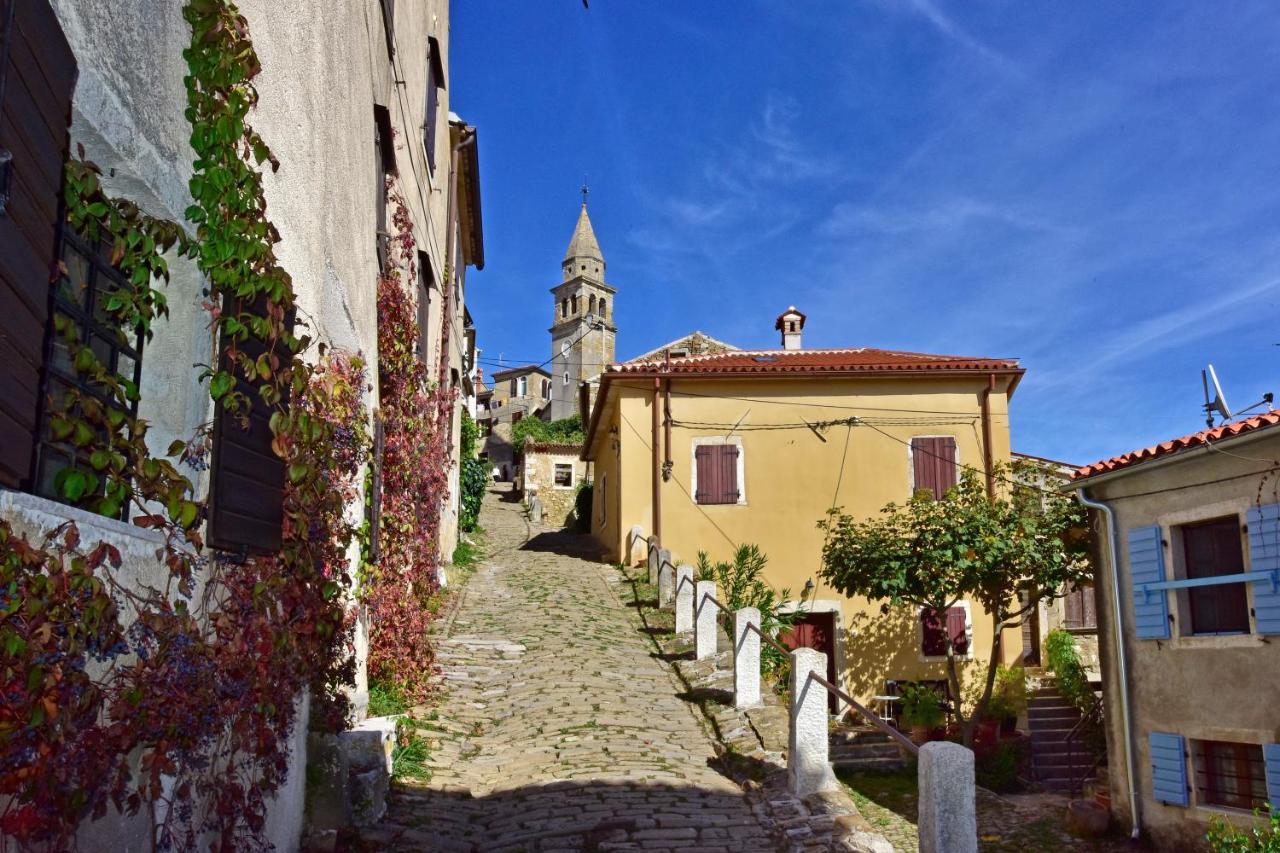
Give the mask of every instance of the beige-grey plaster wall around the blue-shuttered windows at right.
[[[1256, 439], [1231, 442], [1222, 452], [1185, 451], [1179, 461], [1138, 465], [1123, 478], [1089, 487], [1091, 497], [1108, 502], [1119, 528], [1120, 606], [1124, 629], [1112, 617], [1115, 588], [1105, 549], [1097, 555], [1098, 639], [1102, 684], [1107, 711], [1107, 752], [1111, 756], [1111, 802], [1117, 820], [1132, 820], [1128, 799], [1129, 770], [1124, 765], [1124, 727], [1119, 713], [1121, 684], [1116, 648], [1124, 643], [1130, 681], [1130, 713], [1134, 736], [1134, 775], [1139, 792], [1142, 825], [1157, 844], [1196, 847], [1208, 821], [1222, 815], [1238, 824], [1252, 818], [1234, 809], [1203, 804], [1193, 784], [1190, 807], [1165, 806], [1152, 798], [1152, 731], [1179, 734], [1192, 740], [1275, 743], [1280, 740], [1280, 646], [1257, 633], [1230, 637], [1192, 637], [1185, 601], [1166, 593], [1172, 615], [1170, 639], [1137, 639], [1133, 634], [1133, 593], [1129, 575], [1126, 530], [1160, 524], [1166, 566], [1180, 571], [1176, 525], [1244, 514], [1256, 503], [1280, 501], [1275, 476], [1261, 473], [1262, 462], [1280, 457], [1280, 434], [1266, 430]], [[1231, 453], [1230, 456], [1228, 453]], [[1149, 467], [1148, 467], [1149, 466]], [[1234, 478], [1234, 479], [1226, 479]], [[1224, 480], [1226, 482], [1219, 482]], [[1156, 492], [1155, 494], [1146, 494]], [[1126, 497], [1135, 496], [1135, 497]], [[1103, 535], [1093, 519], [1097, 537]], [[1245, 566], [1249, 561], [1244, 538]], [[1247, 590], [1252, 602], [1252, 589]], [[1270, 640], [1270, 642], [1268, 642]], [[1196, 779], [1194, 754], [1188, 774]]]

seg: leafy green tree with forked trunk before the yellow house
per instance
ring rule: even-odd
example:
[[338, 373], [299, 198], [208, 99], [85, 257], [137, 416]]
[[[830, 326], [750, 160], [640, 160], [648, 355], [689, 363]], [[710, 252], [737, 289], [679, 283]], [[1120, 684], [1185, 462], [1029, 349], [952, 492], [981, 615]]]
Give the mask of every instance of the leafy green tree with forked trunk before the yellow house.
[[[1012, 470], [997, 465], [996, 479], [1011, 480]], [[827, 533], [820, 574], [846, 596], [881, 601], [882, 612], [915, 606], [945, 613], [968, 598], [991, 615], [991, 652], [979, 698], [969, 715], [959, 702], [956, 707], [964, 743], [970, 745], [991, 702], [1002, 631], [1021, 625], [1042, 601], [1065, 596], [1092, 576], [1084, 517], [1084, 508], [1062, 494], [1016, 488], [989, 497], [982, 476], [965, 471], [940, 501], [922, 492], [865, 521], [832, 510], [818, 523]], [[945, 634], [947, 680], [959, 698], [959, 661], [950, 631]]]

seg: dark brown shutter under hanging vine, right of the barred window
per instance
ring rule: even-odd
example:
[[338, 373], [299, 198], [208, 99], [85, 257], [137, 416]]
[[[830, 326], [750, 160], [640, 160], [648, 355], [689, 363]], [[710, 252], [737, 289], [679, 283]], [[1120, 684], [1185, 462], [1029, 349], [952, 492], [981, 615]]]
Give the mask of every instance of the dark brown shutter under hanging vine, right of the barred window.
[[[292, 325], [292, 323], [291, 323]], [[239, 350], [257, 359], [266, 346], [250, 337]], [[282, 361], [288, 355], [280, 352]], [[280, 549], [284, 524], [284, 460], [271, 450], [271, 411], [261, 394], [238, 375], [223, 352], [223, 370], [237, 374], [236, 389], [250, 401], [248, 428], [243, 412], [216, 406], [210, 462], [209, 544], [224, 551], [273, 553]]]

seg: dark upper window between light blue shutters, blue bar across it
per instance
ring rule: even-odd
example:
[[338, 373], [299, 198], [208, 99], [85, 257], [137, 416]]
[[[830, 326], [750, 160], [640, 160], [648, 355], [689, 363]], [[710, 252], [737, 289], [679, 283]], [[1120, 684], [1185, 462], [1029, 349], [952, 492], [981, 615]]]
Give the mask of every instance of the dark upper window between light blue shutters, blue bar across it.
[[[1185, 578], [1236, 575], [1244, 571], [1240, 523], [1235, 517], [1181, 526]], [[1249, 602], [1244, 584], [1193, 587], [1188, 605], [1192, 634], [1247, 634]]]

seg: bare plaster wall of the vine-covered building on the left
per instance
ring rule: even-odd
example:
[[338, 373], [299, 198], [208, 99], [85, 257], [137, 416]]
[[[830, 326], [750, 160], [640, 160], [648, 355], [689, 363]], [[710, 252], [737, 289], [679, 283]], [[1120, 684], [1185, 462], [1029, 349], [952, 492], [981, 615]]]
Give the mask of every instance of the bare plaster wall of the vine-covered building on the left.
[[[182, 51], [189, 27], [182, 4], [163, 0], [52, 0], [76, 54], [79, 77], [73, 100], [72, 149], [105, 172], [108, 191], [134, 200], [155, 216], [184, 222], [191, 204], [187, 181], [193, 152]], [[439, 91], [435, 168], [422, 150], [428, 38], [436, 38], [448, 68], [447, 0], [396, 4], [394, 59], [388, 50], [378, 0], [314, 4], [306, 0], [241, 0], [262, 63], [256, 86], [257, 109], [248, 120], [280, 161], [264, 173], [268, 215], [280, 232], [275, 251], [293, 279], [298, 318], [312, 338], [362, 352], [369, 366], [366, 403], [376, 405], [376, 260], [374, 104], [388, 108], [394, 133], [398, 187], [408, 206], [419, 248], [443, 282], [445, 268], [447, 186], [449, 170], [449, 85]], [[188, 225], [189, 227], [189, 225]], [[193, 264], [170, 259], [170, 315], [155, 324], [142, 357], [140, 414], [151, 424], [152, 453], [163, 455], [175, 438], [189, 438], [212, 418], [207, 391], [193, 364], [211, 360], [212, 339], [201, 307], [205, 283]], [[454, 266], [457, 269], [457, 266]], [[439, 287], [439, 286], [438, 286]], [[443, 359], [462, 364], [462, 277], [453, 316], [443, 298], [431, 298], [428, 319], [433, 369]], [[442, 330], [456, 323], [445, 352]], [[448, 375], [448, 369], [445, 369]], [[454, 415], [457, 419], [457, 415]], [[453, 434], [457, 435], [457, 423]], [[454, 450], [454, 462], [456, 462]], [[184, 471], [207, 489], [207, 473]], [[456, 483], [448, 506], [456, 512]], [[448, 508], [445, 510], [448, 512]], [[352, 507], [358, 515], [360, 507]], [[125, 556], [128, 583], [157, 583], [163, 567], [146, 532], [86, 516], [32, 496], [0, 492], [0, 515], [20, 530], [44, 529], [73, 517], [87, 540], [99, 533]], [[456, 516], [454, 516], [456, 530]], [[452, 535], [452, 534], [451, 534]], [[443, 543], [442, 543], [443, 544]], [[449, 548], [452, 551], [452, 547]], [[198, 594], [198, 592], [197, 592]], [[361, 625], [364, 622], [361, 621]], [[357, 638], [364, 656], [367, 639]], [[357, 708], [367, 703], [361, 660]], [[297, 849], [302, 830], [302, 788], [307, 708], [303, 704], [291, 752], [291, 774], [268, 818], [268, 840], [276, 849]], [[84, 827], [86, 843], [101, 849], [148, 849], [146, 809], [128, 818], [111, 813]], [[106, 847], [102, 847], [106, 844]]]

